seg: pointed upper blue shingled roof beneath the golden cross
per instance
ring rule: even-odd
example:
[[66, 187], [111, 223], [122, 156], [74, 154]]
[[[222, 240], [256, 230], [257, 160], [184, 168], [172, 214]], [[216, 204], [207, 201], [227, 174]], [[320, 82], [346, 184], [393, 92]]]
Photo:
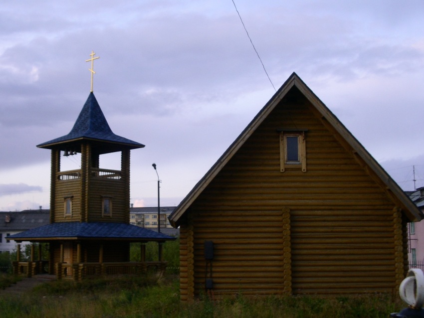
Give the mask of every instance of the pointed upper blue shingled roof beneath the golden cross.
[[69, 134], [37, 145], [39, 148], [50, 148], [79, 139], [91, 139], [114, 144], [127, 145], [130, 148], [143, 148], [144, 145], [115, 135], [109, 127], [99, 103], [93, 92], [87, 98], [72, 130]]

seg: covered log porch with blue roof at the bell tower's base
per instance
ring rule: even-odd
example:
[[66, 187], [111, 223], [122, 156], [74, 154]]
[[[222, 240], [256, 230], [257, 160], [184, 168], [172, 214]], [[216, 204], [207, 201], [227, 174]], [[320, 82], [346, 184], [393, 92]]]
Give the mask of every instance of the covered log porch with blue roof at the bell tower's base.
[[[173, 237], [128, 224], [120, 224], [120, 230], [125, 229], [117, 231], [117, 225], [113, 226], [111, 223], [97, 226], [88, 223], [88, 227], [87, 223], [70, 223], [74, 222], [60, 224], [61, 228], [69, 231], [67, 237], [65, 233], [57, 233], [58, 226], [53, 228], [55, 237], [47, 235], [46, 230], [51, 232], [53, 224], [44, 226], [44, 230], [41, 229], [43, 235], [39, 235], [38, 230], [38, 233], [31, 234], [27, 231], [11, 237], [17, 242], [13, 273], [24, 277], [50, 274], [57, 279], [83, 280], [113, 275], [140, 275], [149, 271], [163, 274], [167, 268], [167, 262], [162, 256], [162, 245], [167, 240], [174, 240]], [[81, 227], [84, 229], [81, 230]], [[75, 228], [79, 229], [80, 233], [76, 233]], [[111, 231], [112, 228], [114, 231]], [[21, 259], [20, 243], [23, 241], [32, 243], [29, 260]], [[145, 243], [149, 241], [158, 242], [158, 260], [146, 261]], [[130, 243], [141, 243], [140, 261], [130, 261]], [[48, 251], [48, 256], [45, 251]], [[47, 259], [43, 259], [43, 252], [44, 258]]]

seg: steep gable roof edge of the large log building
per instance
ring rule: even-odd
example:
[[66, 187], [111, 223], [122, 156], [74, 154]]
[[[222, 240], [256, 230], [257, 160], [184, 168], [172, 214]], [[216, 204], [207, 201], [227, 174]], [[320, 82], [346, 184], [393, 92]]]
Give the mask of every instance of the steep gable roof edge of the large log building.
[[384, 184], [385, 189], [391, 192], [391, 197], [398, 200], [403, 210], [407, 212], [407, 216], [411, 221], [420, 221], [423, 213], [411, 201], [408, 195], [399, 187], [392, 177], [383, 169], [383, 167], [367, 152], [367, 150], [358, 142], [358, 140], [347, 130], [347, 128], [337, 119], [337, 117], [325, 106], [325, 104], [306, 86], [296, 73], [292, 73], [284, 82], [280, 89], [272, 96], [266, 105], [259, 111], [253, 120], [247, 125], [237, 139], [229, 146], [222, 156], [212, 165], [205, 176], [199, 180], [189, 194], [181, 201], [173, 213], [169, 216], [169, 220], [173, 226], [177, 226], [180, 218], [184, 215], [190, 205], [197, 199], [203, 190], [209, 185], [213, 178], [232, 158], [232, 156], [240, 149], [245, 141], [259, 127], [263, 120], [278, 105], [284, 96], [296, 87], [312, 104], [312, 106], [320, 113], [331, 127], [344, 139], [355, 154], [361, 158], [365, 164], [371, 168], [377, 178]]

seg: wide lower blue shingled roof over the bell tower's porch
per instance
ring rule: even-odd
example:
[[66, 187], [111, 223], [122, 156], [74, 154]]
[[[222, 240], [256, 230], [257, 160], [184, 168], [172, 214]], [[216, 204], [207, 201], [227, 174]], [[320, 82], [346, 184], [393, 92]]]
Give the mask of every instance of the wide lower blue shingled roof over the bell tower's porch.
[[166, 241], [175, 238], [139, 226], [108, 222], [59, 222], [40, 226], [28, 231], [10, 235], [14, 240], [34, 240], [48, 238], [105, 238], [111, 240], [134, 239]]

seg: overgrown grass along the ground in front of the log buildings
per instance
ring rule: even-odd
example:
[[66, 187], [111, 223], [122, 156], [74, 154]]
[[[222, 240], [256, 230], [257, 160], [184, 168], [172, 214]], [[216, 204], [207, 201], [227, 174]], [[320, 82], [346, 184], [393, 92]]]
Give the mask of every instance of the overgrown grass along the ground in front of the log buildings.
[[244, 297], [180, 303], [178, 276], [55, 281], [21, 297], [0, 296], [2, 318], [387, 318], [405, 306], [387, 295]]

